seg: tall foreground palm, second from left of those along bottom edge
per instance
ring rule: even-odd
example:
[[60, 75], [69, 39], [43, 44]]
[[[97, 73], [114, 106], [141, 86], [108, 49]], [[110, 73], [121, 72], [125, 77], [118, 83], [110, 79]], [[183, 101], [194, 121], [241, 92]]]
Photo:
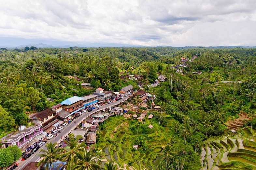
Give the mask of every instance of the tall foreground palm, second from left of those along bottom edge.
[[70, 138], [70, 141], [65, 142], [69, 149], [64, 149], [64, 153], [59, 155], [59, 159], [67, 163], [67, 169], [72, 170], [73, 165], [77, 163], [80, 152], [84, 152], [86, 145], [84, 143], [78, 145], [77, 139], [74, 138]]

